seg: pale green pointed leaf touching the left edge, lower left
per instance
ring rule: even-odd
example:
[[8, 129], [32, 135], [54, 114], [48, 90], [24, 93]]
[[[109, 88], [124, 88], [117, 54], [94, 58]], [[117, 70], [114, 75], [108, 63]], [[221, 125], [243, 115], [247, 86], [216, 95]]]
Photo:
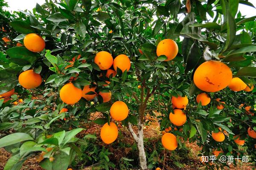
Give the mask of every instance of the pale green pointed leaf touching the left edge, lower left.
[[12, 133], [3, 138], [0, 138], [0, 147], [6, 147], [12, 144], [16, 144], [22, 141], [34, 140], [30, 135], [26, 133]]

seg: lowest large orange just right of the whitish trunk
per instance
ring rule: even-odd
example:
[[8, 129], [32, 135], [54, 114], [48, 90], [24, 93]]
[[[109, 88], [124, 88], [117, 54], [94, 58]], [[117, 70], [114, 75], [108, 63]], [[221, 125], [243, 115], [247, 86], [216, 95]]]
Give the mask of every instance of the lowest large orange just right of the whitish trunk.
[[172, 133], [166, 133], [162, 136], [163, 147], [168, 150], [175, 150], [178, 147], [177, 138]]

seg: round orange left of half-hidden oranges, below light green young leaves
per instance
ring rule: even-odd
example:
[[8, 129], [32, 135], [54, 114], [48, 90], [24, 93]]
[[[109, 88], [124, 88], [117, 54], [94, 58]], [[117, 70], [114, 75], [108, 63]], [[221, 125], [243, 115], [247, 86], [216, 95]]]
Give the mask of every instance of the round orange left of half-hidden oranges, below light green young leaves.
[[82, 90], [73, 83], [65, 84], [60, 90], [61, 100], [66, 104], [75, 104], [82, 97]]

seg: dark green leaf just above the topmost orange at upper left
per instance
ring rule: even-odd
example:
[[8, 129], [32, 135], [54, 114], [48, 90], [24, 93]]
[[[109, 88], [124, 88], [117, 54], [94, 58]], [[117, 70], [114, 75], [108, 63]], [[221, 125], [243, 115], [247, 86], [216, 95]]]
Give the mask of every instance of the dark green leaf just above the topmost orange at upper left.
[[16, 20], [9, 23], [10, 26], [12, 26], [15, 31], [21, 33], [21, 34], [30, 34], [35, 33], [35, 29], [32, 28], [29, 23], [26, 23], [25, 21]]

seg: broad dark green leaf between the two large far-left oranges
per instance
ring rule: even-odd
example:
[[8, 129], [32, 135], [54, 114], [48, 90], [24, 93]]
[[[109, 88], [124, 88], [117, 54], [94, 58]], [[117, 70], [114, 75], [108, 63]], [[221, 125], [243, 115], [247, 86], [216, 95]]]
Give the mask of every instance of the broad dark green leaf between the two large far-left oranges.
[[23, 59], [29, 63], [34, 63], [41, 55], [37, 52], [31, 52], [25, 47], [15, 46], [6, 51], [10, 58]]

